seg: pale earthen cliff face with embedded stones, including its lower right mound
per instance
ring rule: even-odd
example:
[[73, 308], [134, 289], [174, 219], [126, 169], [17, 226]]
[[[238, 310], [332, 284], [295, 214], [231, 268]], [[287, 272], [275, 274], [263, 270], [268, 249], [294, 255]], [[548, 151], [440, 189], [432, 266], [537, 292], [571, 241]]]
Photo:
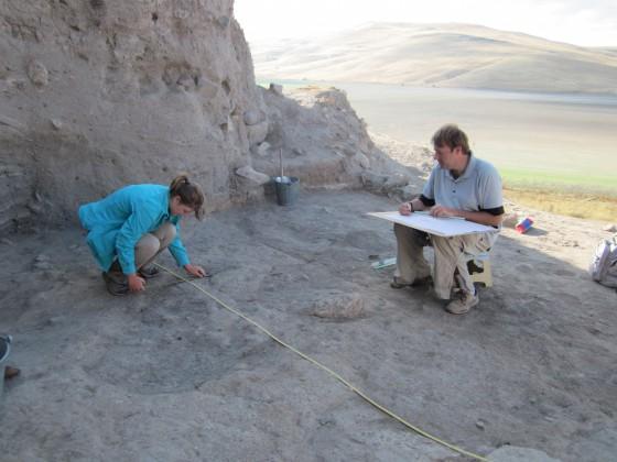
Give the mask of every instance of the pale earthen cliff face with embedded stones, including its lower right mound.
[[302, 109], [259, 89], [232, 10], [0, 0], [0, 229], [75, 222], [79, 204], [178, 172], [226, 208], [262, 197], [281, 153], [304, 184], [359, 185], [376, 150], [344, 95]]

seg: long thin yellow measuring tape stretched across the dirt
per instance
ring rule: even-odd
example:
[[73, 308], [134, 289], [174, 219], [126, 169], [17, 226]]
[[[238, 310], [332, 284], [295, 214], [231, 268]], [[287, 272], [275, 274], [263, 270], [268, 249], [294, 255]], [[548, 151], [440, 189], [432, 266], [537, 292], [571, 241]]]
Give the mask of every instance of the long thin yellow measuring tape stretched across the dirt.
[[304, 360], [308, 361], [310, 363], [316, 365], [317, 367], [320, 367], [321, 370], [327, 372], [329, 375], [332, 375], [334, 378], [336, 378], [338, 382], [342, 382], [345, 386], [347, 386], [349, 389], [351, 389], [351, 392], [356, 393], [358, 396], [360, 396], [362, 399], [365, 399], [366, 402], [368, 402], [369, 404], [371, 404], [372, 406], [375, 406], [376, 408], [378, 408], [379, 410], [381, 410], [383, 414], [390, 416], [391, 418], [393, 418], [394, 420], [398, 420], [399, 422], [401, 422], [402, 425], [404, 425], [407, 428], [415, 431], [418, 435], [423, 436], [424, 438], [427, 438], [430, 440], [435, 441], [436, 443], [440, 443], [442, 446], [445, 446], [448, 449], [452, 449], [455, 452], [458, 452], [459, 454], [463, 455], [467, 455], [469, 458], [474, 458], [478, 461], [484, 461], [484, 462], [488, 462], [488, 459], [483, 458], [481, 455], [478, 454], [474, 454], [473, 452], [469, 451], [465, 451], [462, 448], [458, 448], [457, 446], [451, 444], [447, 441], [441, 440], [437, 437], [432, 436], [431, 433], [425, 432], [424, 430], [422, 430], [421, 428], [418, 428], [413, 425], [411, 425], [410, 422], [408, 422], [405, 419], [403, 419], [402, 417], [398, 416], [397, 414], [392, 413], [390, 409], [381, 406], [379, 403], [377, 403], [376, 400], [374, 400], [372, 398], [370, 398], [369, 396], [367, 396], [361, 389], [358, 389], [354, 384], [349, 383], [347, 380], [345, 380], [344, 377], [342, 377], [338, 373], [334, 372], [332, 369], [323, 365], [322, 363], [320, 363], [317, 360], [314, 360], [313, 358], [308, 356], [307, 354], [304, 354], [303, 352], [301, 352], [300, 350], [296, 350], [295, 348], [293, 348], [292, 345], [290, 345], [289, 343], [284, 342], [283, 340], [281, 340], [280, 338], [278, 338], [277, 336], [274, 336], [272, 332], [270, 332], [268, 329], [266, 329], [263, 326], [261, 326], [260, 323], [253, 321], [252, 319], [250, 319], [248, 316], [243, 315], [242, 312], [238, 311], [237, 309], [230, 307], [229, 305], [227, 305], [225, 301], [223, 301], [220, 298], [212, 295], [209, 292], [207, 292], [205, 288], [203, 288], [202, 286], [199, 286], [198, 284], [195, 284], [193, 280], [190, 280], [183, 276], [181, 276], [180, 274], [166, 268], [165, 266], [162, 266], [158, 263], [154, 263], [155, 266], [160, 267], [161, 270], [170, 273], [171, 275], [177, 277], [181, 280], [184, 280], [187, 284], [191, 284], [193, 287], [195, 287], [197, 290], [201, 290], [202, 293], [204, 293], [205, 295], [207, 295], [209, 298], [212, 298], [213, 300], [215, 300], [217, 304], [219, 304], [223, 308], [227, 309], [228, 311], [231, 311], [234, 315], [242, 318], [245, 321], [251, 323], [252, 326], [255, 326], [257, 329], [259, 329], [260, 331], [262, 331], [263, 333], [266, 333], [268, 337], [270, 337], [272, 340], [274, 340], [277, 343], [283, 345], [284, 348], [293, 351], [295, 354], [297, 354], [299, 356], [303, 358]]

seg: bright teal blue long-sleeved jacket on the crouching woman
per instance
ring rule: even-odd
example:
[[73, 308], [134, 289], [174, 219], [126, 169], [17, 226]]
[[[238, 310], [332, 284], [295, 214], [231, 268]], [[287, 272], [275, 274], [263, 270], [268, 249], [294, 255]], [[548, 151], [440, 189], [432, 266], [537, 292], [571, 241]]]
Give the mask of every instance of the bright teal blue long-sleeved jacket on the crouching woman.
[[176, 227], [169, 249], [180, 266], [190, 263], [180, 240], [180, 218], [170, 215], [170, 188], [161, 185], [126, 186], [97, 202], [79, 207], [79, 220], [88, 231], [87, 243], [102, 271], [116, 256], [125, 274], [136, 273], [134, 248], [148, 232], [166, 221]]

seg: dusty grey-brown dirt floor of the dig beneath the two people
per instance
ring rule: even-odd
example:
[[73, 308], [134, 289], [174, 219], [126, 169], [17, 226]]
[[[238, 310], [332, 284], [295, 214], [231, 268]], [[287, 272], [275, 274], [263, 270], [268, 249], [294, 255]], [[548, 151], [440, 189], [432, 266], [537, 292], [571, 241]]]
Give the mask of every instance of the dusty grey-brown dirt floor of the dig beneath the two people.
[[[615, 460], [617, 294], [586, 274], [602, 223], [534, 213], [529, 233], [505, 229], [494, 287], [455, 317], [371, 268], [396, 240], [364, 213], [393, 209], [303, 190], [187, 221], [183, 240], [214, 273], [204, 288], [423, 430], [481, 455]], [[171, 275], [108, 295], [78, 229], [0, 251], [0, 331], [22, 369], [4, 387], [3, 461], [469, 460]]]

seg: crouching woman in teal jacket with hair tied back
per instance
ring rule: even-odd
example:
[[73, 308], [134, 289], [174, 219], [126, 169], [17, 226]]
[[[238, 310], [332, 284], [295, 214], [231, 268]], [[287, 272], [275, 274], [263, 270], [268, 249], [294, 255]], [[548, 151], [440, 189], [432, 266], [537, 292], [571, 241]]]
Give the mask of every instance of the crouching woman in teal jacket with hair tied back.
[[145, 279], [159, 270], [150, 265], [170, 249], [178, 266], [197, 277], [206, 276], [192, 265], [180, 240], [180, 220], [195, 213], [202, 219], [204, 194], [186, 175], [162, 185], [131, 185], [97, 202], [79, 207], [79, 220], [88, 231], [87, 243], [102, 270], [112, 295], [145, 289]]

